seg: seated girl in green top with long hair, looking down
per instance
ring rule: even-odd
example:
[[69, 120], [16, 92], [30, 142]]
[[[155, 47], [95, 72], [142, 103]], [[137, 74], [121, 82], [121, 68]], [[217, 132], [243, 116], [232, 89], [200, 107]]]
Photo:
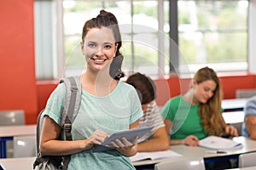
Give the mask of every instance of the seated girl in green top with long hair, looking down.
[[[170, 144], [197, 146], [200, 139], [223, 133], [238, 136], [236, 127], [224, 122], [221, 109], [222, 89], [218, 76], [204, 67], [195, 73], [189, 90], [166, 102], [165, 118]], [[172, 130], [171, 130], [172, 127]]]

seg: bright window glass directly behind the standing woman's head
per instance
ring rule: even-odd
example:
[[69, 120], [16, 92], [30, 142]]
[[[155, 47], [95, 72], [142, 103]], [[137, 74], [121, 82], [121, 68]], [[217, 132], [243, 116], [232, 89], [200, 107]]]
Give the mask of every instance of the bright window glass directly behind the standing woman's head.
[[[123, 70], [150, 71], [157, 75], [158, 66], [158, 16], [157, 1], [63, 1], [65, 34], [66, 76], [84, 70], [84, 58], [79, 42], [85, 20], [95, 17], [102, 8], [113, 12], [119, 20], [123, 38]], [[132, 9], [131, 9], [132, 8]], [[151, 70], [148, 70], [151, 68]], [[154, 69], [152, 69], [154, 68]]]

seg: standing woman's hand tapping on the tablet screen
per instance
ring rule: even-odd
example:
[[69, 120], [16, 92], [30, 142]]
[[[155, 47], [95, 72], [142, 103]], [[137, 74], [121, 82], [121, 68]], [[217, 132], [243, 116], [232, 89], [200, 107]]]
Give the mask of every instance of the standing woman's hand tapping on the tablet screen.
[[87, 149], [90, 149], [94, 144], [102, 144], [102, 142], [109, 137], [108, 133], [101, 130], [96, 130], [87, 139], [89, 143], [87, 144]]

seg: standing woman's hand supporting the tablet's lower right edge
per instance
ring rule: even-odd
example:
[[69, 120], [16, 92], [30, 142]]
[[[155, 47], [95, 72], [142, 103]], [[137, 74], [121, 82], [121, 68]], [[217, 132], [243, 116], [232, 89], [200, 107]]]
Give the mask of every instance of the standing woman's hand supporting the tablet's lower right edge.
[[131, 142], [125, 138], [122, 138], [121, 140], [115, 139], [111, 144], [111, 147], [119, 150], [124, 156], [133, 156], [137, 153], [137, 138], [133, 139]]

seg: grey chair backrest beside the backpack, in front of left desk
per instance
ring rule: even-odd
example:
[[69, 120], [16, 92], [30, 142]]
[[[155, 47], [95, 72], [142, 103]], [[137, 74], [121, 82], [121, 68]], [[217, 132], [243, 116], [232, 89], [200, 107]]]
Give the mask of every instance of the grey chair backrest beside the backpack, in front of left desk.
[[14, 157], [36, 156], [36, 136], [15, 136]]

